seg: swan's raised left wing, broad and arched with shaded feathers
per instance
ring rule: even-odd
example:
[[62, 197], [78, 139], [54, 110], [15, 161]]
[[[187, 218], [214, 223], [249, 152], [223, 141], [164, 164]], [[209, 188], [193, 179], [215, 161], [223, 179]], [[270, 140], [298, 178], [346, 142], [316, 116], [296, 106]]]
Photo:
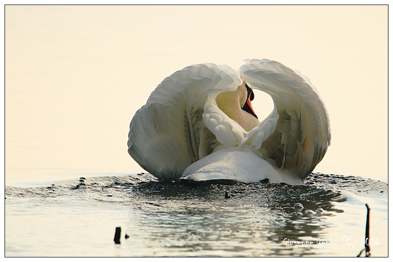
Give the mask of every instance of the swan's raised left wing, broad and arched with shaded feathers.
[[130, 123], [128, 152], [163, 179], [178, 179], [186, 167], [212, 152], [216, 137], [203, 123], [207, 97], [240, 84], [228, 66], [188, 66], [164, 79]]

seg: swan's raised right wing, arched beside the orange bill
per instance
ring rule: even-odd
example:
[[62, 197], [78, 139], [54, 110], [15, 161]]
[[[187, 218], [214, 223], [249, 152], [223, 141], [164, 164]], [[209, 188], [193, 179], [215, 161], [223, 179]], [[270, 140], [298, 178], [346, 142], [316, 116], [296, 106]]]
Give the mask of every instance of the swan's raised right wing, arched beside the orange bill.
[[[252, 88], [272, 97], [279, 114], [274, 132], [263, 137], [260, 150], [278, 168], [306, 178], [324, 157], [331, 139], [329, 115], [318, 91], [305, 76], [272, 60], [248, 60], [240, 73]], [[273, 111], [271, 117], [277, 114]]]

